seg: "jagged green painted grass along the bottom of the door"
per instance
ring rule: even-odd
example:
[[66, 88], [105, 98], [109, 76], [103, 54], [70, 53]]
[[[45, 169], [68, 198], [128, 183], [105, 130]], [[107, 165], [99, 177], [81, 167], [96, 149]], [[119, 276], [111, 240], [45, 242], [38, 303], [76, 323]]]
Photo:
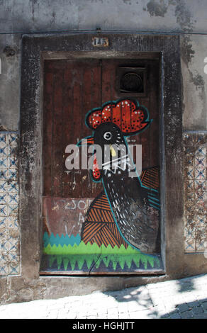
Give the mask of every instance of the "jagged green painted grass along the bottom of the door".
[[60, 244], [54, 244], [53, 246], [47, 244], [43, 252], [49, 256], [50, 267], [56, 260], [58, 269], [60, 269], [63, 263], [65, 271], [67, 271], [68, 264], [70, 264], [72, 270], [74, 270], [76, 265], [81, 270], [84, 263], [86, 263], [87, 268], [90, 269], [93, 262], [96, 269], [98, 269], [101, 261], [104, 262], [106, 267], [112, 264], [113, 270], [116, 270], [118, 264], [121, 266], [121, 269], [124, 269], [125, 264], [128, 269], [130, 269], [132, 263], [134, 263], [137, 268], [142, 264], [145, 269], [147, 269], [148, 264], [150, 264], [152, 268], [155, 266], [155, 263], [157, 266], [160, 266], [160, 260], [157, 256], [143, 254], [132, 247], [125, 249], [123, 245], [118, 248], [111, 247], [111, 245], [108, 245], [108, 247], [101, 245], [101, 247], [99, 247], [95, 243], [84, 244], [84, 242], [80, 242], [79, 245], [74, 244], [74, 246], [71, 244], [64, 244], [63, 246]]

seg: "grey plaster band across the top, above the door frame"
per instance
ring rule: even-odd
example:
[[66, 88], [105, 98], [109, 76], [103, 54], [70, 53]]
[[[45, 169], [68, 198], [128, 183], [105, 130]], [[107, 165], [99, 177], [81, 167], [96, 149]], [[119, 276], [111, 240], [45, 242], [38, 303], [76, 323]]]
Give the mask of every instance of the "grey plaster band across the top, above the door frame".
[[191, 29], [206, 32], [205, 0], [1, 0], [1, 32]]

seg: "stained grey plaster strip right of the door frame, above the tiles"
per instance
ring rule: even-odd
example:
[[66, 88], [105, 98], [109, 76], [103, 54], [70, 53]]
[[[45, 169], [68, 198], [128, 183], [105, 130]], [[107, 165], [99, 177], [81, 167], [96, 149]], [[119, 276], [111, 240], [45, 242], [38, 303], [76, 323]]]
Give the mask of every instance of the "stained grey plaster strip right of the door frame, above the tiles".
[[181, 37], [184, 130], [207, 128], [207, 74], [204, 72], [206, 44], [207, 35]]

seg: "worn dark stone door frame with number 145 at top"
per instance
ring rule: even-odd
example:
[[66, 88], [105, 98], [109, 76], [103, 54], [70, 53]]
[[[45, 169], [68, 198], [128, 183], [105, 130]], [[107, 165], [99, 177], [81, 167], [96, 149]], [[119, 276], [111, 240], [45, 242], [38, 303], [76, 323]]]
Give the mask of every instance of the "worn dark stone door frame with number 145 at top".
[[[178, 35], [104, 34], [108, 46], [94, 47], [100, 34], [24, 35], [21, 62], [20, 223], [21, 277], [85, 290], [123, 288], [182, 276], [184, 261], [181, 64]], [[160, 56], [160, 147], [162, 149], [161, 276], [39, 276], [42, 249], [43, 60], [77, 57]], [[46, 280], [45, 280], [46, 279]], [[76, 282], [74, 282], [76, 281]], [[101, 283], [101, 284], [100, 284]], [[111, 286], [111, 287], [110, 287]], [[73, 293], [75, 291], [73, 290]]]

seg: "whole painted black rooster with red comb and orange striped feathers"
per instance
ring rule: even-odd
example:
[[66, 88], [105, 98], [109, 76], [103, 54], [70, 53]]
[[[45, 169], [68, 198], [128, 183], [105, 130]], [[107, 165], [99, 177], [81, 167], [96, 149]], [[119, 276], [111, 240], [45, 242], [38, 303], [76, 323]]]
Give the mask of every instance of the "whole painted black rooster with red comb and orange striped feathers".
[[[102, 181], [104, 191], [86, 213], [82, 226], [85, 244], [96, 242], [106, 247], [123, 244], [125, 248], [130, 245], [145, 253], [156, 252], [160, 223], [159, 170], [152, 167], [142, 170], [141, 176], [131, 177], [129, 172], [136, 172], [136, 168], [126, 141], [126, 137], [146, 130], [150, 123], [147, 108], [133, 98], [105, 103], [86, 115], [86, 125], [93, 135], [78, 145], [101, 146], [103, 163], [99, 166], [95, 153], [91, 177]], [[104, 158], [106, 145], [110, 147], [108, 161]]]

